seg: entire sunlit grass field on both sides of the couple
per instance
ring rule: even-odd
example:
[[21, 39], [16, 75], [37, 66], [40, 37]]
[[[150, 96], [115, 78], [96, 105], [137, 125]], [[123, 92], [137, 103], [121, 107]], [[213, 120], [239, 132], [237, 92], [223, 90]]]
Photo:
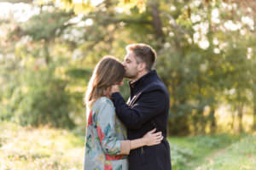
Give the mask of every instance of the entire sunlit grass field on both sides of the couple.
[[[81, 170], [84, 134], [0, 122], [0, 170]], [[256, 134], [170, 138], [174, 170], [256, 170]]]

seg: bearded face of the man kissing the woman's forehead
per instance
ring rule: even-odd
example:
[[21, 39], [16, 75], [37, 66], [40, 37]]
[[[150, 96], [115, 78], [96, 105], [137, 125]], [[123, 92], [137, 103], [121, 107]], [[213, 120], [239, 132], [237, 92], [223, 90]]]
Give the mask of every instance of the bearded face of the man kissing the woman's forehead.
[[136, 55], [133, 52], [128, 51], [125, 55], [123, 65], [125, 66], [125, 77], [130, 79], [137, 78], [139, 64], [137, 63]]

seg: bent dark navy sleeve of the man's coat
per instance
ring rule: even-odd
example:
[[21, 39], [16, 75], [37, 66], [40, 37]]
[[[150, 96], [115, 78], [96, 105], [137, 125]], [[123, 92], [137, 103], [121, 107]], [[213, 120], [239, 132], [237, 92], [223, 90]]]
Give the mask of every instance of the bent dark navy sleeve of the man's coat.
[[119, 93], [112, 94], [116, 114], [128, 128], [138, 129], [143, 123], [165, 110], [164, 92], [155, 90], [141, 95], [136, 105], [131, 107], [125, 103], [125, 99]]

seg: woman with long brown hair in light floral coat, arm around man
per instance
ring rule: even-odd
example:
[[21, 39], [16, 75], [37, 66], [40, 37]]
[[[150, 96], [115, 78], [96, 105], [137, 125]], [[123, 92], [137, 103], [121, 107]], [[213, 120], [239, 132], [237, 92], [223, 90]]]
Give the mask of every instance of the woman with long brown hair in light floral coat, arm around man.
[[113, 57], [104, 57], [90, 78], [85, 96], [89, 117], [86, 129], [84, 170], [127, 170], [130, 150], [143, 145], [160, 144], [161, 133], [155, 129], [141, 139], [126, 139], [122, 122], [115, 116], [110, 99], [111, 86], [122, 83], [124, 66]]

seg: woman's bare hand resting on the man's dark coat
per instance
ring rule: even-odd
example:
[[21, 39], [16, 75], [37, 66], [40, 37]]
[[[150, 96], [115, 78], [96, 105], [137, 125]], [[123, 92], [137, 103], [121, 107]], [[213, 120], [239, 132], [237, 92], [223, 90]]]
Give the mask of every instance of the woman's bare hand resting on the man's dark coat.
[[164, 139], [164, 137], [162, 136], [162, 133], [154, 133], [156, 131], [156, 128], [154, 128], [153, 130], [149, 131], [148, 133], [146, 133], [143, 136], [143, 144], [147, 145], [147, 146], [152, 146], [155, 144], [160, 144], [160, 142], [162, 141], [162, 139]]

